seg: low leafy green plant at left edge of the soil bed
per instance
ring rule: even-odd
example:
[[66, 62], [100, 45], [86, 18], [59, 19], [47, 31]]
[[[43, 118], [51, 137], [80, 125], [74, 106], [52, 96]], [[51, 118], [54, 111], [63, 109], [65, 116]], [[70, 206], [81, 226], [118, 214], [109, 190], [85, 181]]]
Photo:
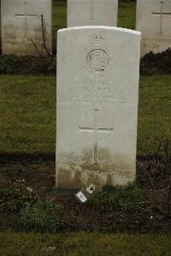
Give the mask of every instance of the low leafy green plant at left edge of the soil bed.
[[0, 211], [20, 211], [33, 200], [33, 193], [24, 188], [0, 188]]

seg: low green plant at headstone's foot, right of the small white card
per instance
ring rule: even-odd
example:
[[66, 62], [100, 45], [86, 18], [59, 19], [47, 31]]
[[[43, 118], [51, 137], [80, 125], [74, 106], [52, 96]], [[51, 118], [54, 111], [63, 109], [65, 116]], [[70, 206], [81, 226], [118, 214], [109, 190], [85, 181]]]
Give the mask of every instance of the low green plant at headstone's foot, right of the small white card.
[[90, 199], [88, 206], [98, 211], [139, 211], [144, 205], [144, 191], [136, 185], [128, 188], [114, 188], [97, 193]]

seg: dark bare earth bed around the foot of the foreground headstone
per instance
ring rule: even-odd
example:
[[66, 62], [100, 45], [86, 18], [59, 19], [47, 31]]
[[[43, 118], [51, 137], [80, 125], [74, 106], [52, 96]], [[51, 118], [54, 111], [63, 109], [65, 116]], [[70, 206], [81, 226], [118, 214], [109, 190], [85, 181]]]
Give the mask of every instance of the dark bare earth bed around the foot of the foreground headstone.
[[[144, 190], [140, 211], [106, 210], [100, 205], [81, 205], [74, 196], [55, 195], [55, 158], [48, 155], [15, 155], [0, 158], [0, 188], [21, 188], [21, 196], [32, 188], [35, 200], [51, 199], [68, 212], [66, 231], [170, 233], [171, 232], [171, 159], [139, 157], [137, 185]], [[13, 194], [13, 193], [11, 193]], [[4, 200], [0, 193], [0, 205]], [[6, 199], [7, 200], [7, 199]], [[10, 199], [8, 199], [10, 201]], [[11, 203], [15, 200], [11, 198]], [[34, 204], [34, 199], [32, 199]], [[0, 231], [18, 231], [21, 207], [0, 207]]]

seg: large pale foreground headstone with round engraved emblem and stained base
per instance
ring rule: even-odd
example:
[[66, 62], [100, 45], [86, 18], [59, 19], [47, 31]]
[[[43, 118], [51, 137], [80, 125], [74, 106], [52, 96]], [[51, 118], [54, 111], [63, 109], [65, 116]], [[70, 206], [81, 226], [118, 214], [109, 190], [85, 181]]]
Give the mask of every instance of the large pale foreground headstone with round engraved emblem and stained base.
[[57, 36], [56, 187], [135, 180], [140, 33], [71, 27]]

